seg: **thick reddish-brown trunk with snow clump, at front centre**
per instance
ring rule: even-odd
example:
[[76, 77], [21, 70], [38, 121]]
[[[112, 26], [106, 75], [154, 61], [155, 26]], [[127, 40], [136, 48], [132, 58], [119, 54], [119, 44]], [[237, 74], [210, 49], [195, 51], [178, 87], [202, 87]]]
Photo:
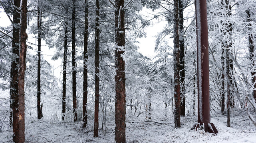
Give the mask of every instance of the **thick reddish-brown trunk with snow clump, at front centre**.
[[124, 0], [115, 0], [115, 142], [125, 143], [125, 48]]

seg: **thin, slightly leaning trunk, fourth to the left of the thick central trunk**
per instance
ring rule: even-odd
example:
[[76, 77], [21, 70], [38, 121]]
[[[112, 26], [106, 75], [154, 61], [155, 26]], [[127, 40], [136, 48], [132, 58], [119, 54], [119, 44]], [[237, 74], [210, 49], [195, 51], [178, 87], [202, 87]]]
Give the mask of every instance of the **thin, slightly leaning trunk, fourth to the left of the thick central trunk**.
[[62, 120], [66, 112], [66, 80], [67, 80], [67, 23], [65, 23], [64, 55], [63, 55], [63, 83], [62, 83]]

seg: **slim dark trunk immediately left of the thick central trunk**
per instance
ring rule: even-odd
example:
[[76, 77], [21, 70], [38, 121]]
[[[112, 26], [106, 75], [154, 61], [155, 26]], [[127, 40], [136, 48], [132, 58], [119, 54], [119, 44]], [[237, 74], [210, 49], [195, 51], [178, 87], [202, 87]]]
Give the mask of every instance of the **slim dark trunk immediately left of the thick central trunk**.
[[95, 108], [93, 137], [98, 137], [99, 130], [99, 0], [96, 0], [95, 19]]

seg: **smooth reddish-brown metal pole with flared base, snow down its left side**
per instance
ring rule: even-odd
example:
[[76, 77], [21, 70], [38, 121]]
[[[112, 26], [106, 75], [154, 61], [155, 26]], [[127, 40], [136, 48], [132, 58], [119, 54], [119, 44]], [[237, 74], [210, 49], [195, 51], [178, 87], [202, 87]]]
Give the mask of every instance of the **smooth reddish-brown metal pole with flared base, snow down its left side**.
[[210, 123], [210, 93], [209, 93], [209, 56], [208, 27], [206, 0], [195, 0], [196, 8], [196, 43], [197, 43], [197, 84], [198, 84], [198, 124], [206, 132], [218, 133]]

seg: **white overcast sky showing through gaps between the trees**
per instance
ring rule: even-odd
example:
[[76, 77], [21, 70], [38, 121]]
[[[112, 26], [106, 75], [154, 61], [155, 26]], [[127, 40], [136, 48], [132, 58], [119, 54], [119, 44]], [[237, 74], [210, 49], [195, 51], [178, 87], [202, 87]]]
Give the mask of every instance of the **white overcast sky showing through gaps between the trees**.
[[[145, 16], [152, 16], [154, 12], [152, 12], [149, 9], [143, 8], [141, 14]], [[3, 12], [3, 9], [0, 9], [0, 21], [1, 21], [0, 22], [1, 27], [7, 27], [11, 25], [11, 22], [8, 19], [7, 15]], [[167, 21], [165, 21], [165, 18], [163, 17], [159, 17], [159, 19], [154, 19], [153, 21], [151, 21], [151, 25], [145, 29], [145, 31], [147, 32], [147, 37], [137, 39], [137, 41], [139, 41], [139, 44], [137, 44], [139, 46], [138, 51], [141, 52], [144, 56], [147, 56], [152, 59], [156, 55], [154, 52], [155, 40], [156, 40], [155, 36], [157, 35], [158, 32], [160, 32], [163, 29], [163, 27], [166, 24], [167, 24]], [[28, 42], [37, 44], [37, 39], [34, 38], [34, 35], [30, 34], [28, 35]], [[27, 44], [30, 45], [29, 43]], [[61, 59], [54, 61], [52, 60], [52, 56], [47, 56], [47, 55], [54, 55], [56, 53], [56, 49], [55, 48], [49, 49], [48, 46], [44, 46], [44, 45], [45, 45], [45, 42], [42, 41], [41, 54], [43, 55], [43, 58], [47, 60], [52, 66], [54, 65], [54, 69], [55, 69], [54, 76], [62, 80], [61, 79], [62, 77]], [[28, 52], [30, 52], [30, 54], [36, 55], [37, 46], [35, 45], [30, 45], [30, 46], [32, 46], [34, 50], [28, 50]]]

